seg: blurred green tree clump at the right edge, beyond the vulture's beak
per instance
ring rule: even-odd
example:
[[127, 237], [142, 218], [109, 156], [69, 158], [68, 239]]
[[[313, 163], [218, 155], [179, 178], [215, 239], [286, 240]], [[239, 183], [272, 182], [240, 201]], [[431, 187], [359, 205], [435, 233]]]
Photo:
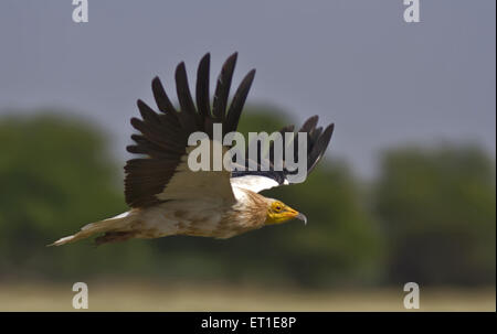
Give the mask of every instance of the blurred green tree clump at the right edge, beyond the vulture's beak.
[[495, 283], [495, 164], [484, 152], [396, 149], [381, 171], [373, 198], [391, 282]]

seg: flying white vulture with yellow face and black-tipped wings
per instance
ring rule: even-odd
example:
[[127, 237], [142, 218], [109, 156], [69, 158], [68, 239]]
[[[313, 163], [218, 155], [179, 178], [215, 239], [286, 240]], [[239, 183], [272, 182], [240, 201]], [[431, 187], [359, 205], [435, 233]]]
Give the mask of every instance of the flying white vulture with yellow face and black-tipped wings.
[[[177, 66], [179, 110], [171, 104], [160, 79], [154, 78], [151, 87], [160, 112], [139, 99], [137, 105], [141, 119], [131, 118], [131, 125], [139, 133], [131, 134], [135, 143], [127, 150], [140, 155], [128, 160], [125, 166], [125, 197], [130, 209], [113, 218], [91, 223], [50, 246], [95, 235], [99, 235], [95, 239], [96, 245], [173, 235], [230, 238], [293, 218], [307, 223], [304, 214], [260, 194], [263, 190], [293, 183], [290, 171], [286, 168], [269, 171], [192, 171], [188, 166], [188, 154], [191, 152], [188, 138], [191, 133], [202, 131], [212, 141], [216, 123], [222, 125], [223, 136], [236, 130], [255, 75], [255, 69], [246, 74], [228, 106], [236, 56], [236, 53], [231, 55], [222, 66], [212, 108], [209, 53], [198, 67], [195, 103], [184, 63]], [[310, 117], [298, 131], [307, 136], [307, 173], [322, 157], [334, 131], [332, 123], [322, 129], [317, 127], [317, 116]], [[293, 132], [294, 127], [281, 130], [282, 133], [288, 131]], [[229, 148], [222, 149], [225, 151]], [[274, 154], [268, 159], [273, 163]]]

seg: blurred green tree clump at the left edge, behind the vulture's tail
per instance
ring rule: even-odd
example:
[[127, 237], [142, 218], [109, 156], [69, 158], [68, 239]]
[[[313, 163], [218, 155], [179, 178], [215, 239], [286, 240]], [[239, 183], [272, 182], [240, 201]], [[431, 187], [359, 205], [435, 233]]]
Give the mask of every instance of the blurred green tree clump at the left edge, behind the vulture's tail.
[[126, 209], [118, 170], [93, 128], [56, 115], [0, 122], [7, 148], [0, 157], [1, 277], [65, 278], [127, 262], [123, 252], [95, 251], [87, 244], [45, 247]]

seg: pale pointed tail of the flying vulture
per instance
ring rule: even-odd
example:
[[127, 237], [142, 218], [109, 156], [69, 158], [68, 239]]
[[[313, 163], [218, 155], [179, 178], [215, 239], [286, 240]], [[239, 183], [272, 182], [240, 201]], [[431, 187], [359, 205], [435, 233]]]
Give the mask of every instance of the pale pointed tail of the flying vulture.
[[120, 234], [121, 231], [126, 230], [126, 227], [129, 226], [129, 223], [133, 220], [133, 215], [130, 213], [131, 212], [126, 212], [113, 218], [87, 224], [83, 226], [78, 233], [72, 236], [60, 238], [55, 243], [47, 246], [61, 246], [81, 239], [86, 239], [95, 234], [101, 233], [118, 231], [118, 234]]

